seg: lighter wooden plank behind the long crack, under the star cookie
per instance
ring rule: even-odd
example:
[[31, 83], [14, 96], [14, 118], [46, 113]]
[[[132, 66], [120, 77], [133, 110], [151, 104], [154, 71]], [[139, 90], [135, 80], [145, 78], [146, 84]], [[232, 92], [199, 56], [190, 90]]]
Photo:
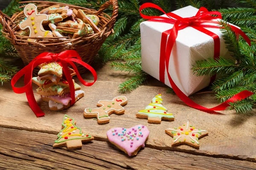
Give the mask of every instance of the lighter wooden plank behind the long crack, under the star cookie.
[[[40, 96], [35, 97], [41, 109], [46, 113], [42, 118], [36, 118], [26, 102], [25, 94], [15, 94], [10, 83], [0, 88], [0, 127], [22, 129], [57, 134], [61, 130], [61, 122], [64, 114], [74, 118], [77, 125], [86, 133], [90, 133], [99, 141], [107, 141], [106, 132], [113, 127], [132, 127], [143, 124], [150, 130], [147, 147], [158, 150], [173, 150], [197, 155], [207, 155], [247, 161], [256, 161], [256, 116], [245, 114], [238, 115], [232, 111], [224, 111], [225, 115], [215, 115], [189, 108], [178, 99], [177, 96], [166, 94], [166, 86], [152, 79], [147, 86], [140, 86], [137, 90], [125, 94], [128, 105], [125, 106], [125, 114], [111, 115], [110, 123], [97, 124], [96, 120], [85, 119], [83, 110], [86, 107], [95, 108], [100, 99], [113, 99], [119, 96], [118, 85], [127, 78], [125, 74], [111, 71], [108, 65], [97, 70], [98, 81], [91, 87], [82, 86], [85, 96], [73, 107], [61, 111], [50, 111], [47, 102], [43, 102]], [[84, 79], [91, 80], [90, 75], [85, 74]], [[154, 81], [153, 81], [154, 80]], [[76, 82], [77, 79], [76, 79]], [[22, 83], [19, 82], [17, 86]], [[79, 83], [81, 85], [81, 83]], [[164, 87], [163, 87], [164, 86]], [[37, 87], [33, 85], [35, 91]], [[163, 94], [163, 105], [173, 113], [175, 121], [162, 121], [161, 124], [148, 124], [147, 119], [138, 119], [135, 114], [144, 109], [151, 99], [158, 93]], [[206, 107], [217, 105], [213, 94], [201, 94], [191, 96], [192, 99]], [[255, 114], [254, 114], [255, 115]], [[196, 128], [208, 130], [209, 136], [199, 140], [200, 149], [194, 149], [187, 145], [171, 147], [172, 137], [164, 130], [169, 127], [177, 127], [183, 122], [190, 121]]]

